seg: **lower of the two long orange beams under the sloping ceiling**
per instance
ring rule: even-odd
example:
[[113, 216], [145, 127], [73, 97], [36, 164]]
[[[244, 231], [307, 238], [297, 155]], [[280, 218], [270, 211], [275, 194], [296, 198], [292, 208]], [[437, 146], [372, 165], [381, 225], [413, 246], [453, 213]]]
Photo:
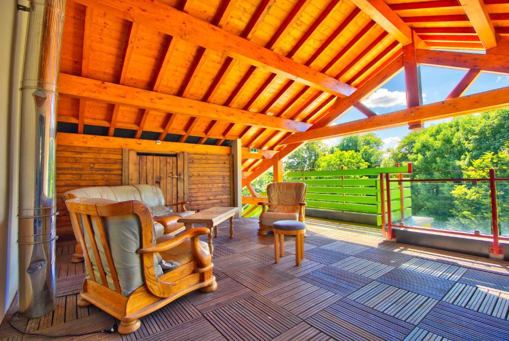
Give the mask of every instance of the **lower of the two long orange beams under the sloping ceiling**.
[[72, 97], [91, 98], [107, 103], [238, 122], [277, 130], [302, 132], [310, 126], [304, 122], [222, 107], [199, 100], [96, 81], [66, 73], [60, 74], [59, 92]]

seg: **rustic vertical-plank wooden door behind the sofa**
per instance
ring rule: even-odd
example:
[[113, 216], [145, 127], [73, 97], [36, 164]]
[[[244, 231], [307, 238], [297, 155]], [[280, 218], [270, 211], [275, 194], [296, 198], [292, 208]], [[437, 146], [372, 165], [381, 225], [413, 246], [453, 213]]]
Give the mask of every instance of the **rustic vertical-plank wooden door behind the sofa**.
[[[149, 154], [128, 151], [128, 162], [124, 163], [125, 185], [153, 185], [161, 189], [167, 205], [186, 200], [184, 155]], [[127, 155], [126, 155], [127, 156]], [[173, 207], [176, 209], [176, 207]]]

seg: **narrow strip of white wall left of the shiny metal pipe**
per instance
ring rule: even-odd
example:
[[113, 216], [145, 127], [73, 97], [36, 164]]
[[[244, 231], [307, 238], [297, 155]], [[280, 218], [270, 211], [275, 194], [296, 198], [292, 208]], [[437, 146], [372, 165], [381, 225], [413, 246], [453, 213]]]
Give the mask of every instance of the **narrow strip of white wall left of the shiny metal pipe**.
[[15, 0], [0, 1], [0, 320], [18, 287], [19, 87], [28, 15], [16, 12]]

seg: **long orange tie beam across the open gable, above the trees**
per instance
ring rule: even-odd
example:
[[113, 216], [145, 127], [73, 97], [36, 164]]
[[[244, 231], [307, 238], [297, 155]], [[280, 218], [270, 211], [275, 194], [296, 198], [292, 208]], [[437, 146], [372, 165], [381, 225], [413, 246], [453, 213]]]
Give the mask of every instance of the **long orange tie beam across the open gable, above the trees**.
[[[413, 121], [433, 121], [509, 107], [509, 87], [451, 98], [424, 106], [377, 115], [291, 135], [284, 144], [356, 135], [402, 126]], [[280, 156], [281, 157], [281, 156]]]

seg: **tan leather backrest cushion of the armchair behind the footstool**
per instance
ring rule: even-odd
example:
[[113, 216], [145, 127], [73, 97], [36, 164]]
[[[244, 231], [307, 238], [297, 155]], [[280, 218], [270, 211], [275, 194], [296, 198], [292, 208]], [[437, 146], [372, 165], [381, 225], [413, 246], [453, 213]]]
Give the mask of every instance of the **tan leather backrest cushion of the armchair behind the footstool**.
[[273, 182], [267, 186], [271, 212], [299, 212], [299, 202], [306, 198], [307, 185], [303, 182]]

